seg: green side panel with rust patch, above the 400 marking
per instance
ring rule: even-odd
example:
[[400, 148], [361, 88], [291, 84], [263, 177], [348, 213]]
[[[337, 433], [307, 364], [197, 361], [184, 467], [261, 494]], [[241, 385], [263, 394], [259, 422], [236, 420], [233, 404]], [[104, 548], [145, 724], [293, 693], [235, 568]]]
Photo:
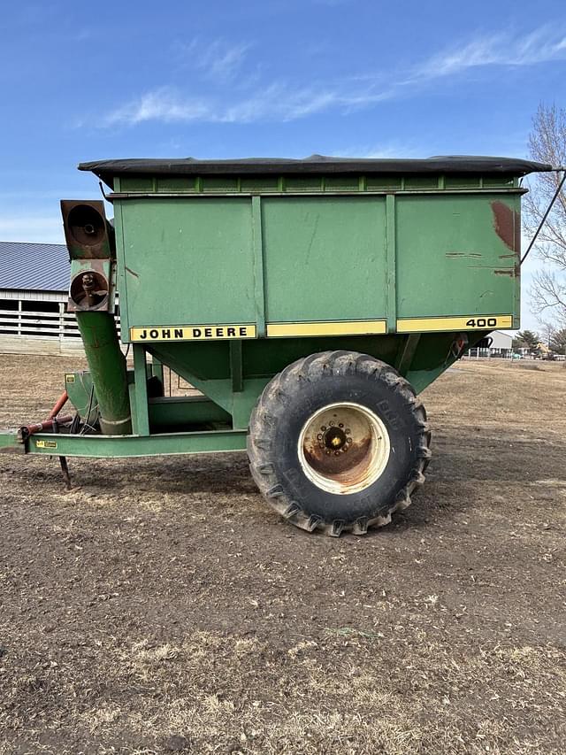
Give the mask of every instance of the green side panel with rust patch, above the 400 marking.
[[397, 316], [518, 317], [519, 202], [491, 193], [398, 196]]

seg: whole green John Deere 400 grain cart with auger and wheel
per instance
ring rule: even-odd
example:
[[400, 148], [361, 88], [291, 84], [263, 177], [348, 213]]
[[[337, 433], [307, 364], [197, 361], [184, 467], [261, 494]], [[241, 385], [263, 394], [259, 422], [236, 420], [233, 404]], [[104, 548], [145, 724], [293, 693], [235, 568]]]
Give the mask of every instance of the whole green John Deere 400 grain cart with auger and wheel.
[[[88, 373], [1, 451], [135, 457], [247, 449], [300, 528], [363, 534], [424, 482], [417, 395], [519, 327], [524, 189], [509, 158], [110, 160], [64, 201]], [[121, 341], [114, 320], [119, 293]], [[163, 365], [202, 395], [164, 397]], [[73, 414], [61, 416], [68, 396]]]

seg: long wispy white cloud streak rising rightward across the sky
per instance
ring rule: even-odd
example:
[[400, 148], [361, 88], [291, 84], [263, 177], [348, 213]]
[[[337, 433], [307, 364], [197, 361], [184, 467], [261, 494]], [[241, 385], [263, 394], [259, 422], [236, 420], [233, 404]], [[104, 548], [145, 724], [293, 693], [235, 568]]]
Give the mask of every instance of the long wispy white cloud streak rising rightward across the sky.
[[[187, 50], [198, 58], [198, 40]], [[195, 66], [219, 85], [226, 85], [238, 71], [249, 49], [241, 44], [226, 47], [213, 42], [197, 59]], [[566, 36], [551, 27], [539, 27], [530, 34], [509, 33], [480, 36], [470, 42], [444, 50], [427, 58], [398, 76], [387, 72], [363, 73], [340, 81], [290, 84], [270, 81], [241, 94], [241, 88], [224, 87], [221, 96], [187, 96], [179, 89], [153, 89], [110, 112], [103, 125], [134, 126], [146, 121], [164, 123], [251, 123], [254, 121], [288, 121], [329, 110], [349, 112], [397, 96], [407, 96], [431, 86], [433, 81], [457, 76], [473, 68], [486, 66], [521, 66], [566, 58]], [[386, 75], [387, 73], [387, 75]], [[238, 92], [234, 96], [234, 91]]]

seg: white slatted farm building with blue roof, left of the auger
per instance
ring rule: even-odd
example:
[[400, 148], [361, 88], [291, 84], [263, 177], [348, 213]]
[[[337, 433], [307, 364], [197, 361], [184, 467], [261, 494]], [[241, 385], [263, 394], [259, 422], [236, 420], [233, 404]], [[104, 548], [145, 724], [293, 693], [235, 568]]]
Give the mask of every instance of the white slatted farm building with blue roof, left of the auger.
[[82, 350], [66, 312], [70, 269], [65, 244], [0, 242], [0, 352]]

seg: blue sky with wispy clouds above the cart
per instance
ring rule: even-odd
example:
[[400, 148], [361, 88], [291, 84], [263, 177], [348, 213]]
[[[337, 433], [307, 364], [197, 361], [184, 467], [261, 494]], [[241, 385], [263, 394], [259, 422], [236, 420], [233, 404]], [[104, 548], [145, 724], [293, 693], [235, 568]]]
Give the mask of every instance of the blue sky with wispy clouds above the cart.
[[566, 93], [563, 0], [2, 7], [5, 241], [63, 241], [57, 200], [99, 196], [81, 160], [524, 157]]

